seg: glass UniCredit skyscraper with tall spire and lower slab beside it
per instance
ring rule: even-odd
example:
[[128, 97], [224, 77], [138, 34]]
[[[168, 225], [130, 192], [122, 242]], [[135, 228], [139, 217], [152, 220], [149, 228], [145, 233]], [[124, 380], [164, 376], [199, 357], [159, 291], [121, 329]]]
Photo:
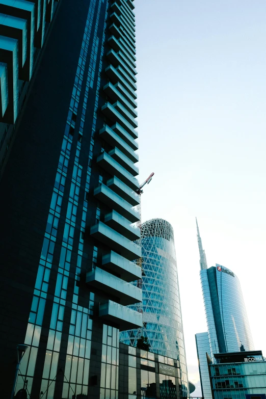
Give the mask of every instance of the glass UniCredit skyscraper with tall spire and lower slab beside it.
[[[201, 267], [200, 280], [208, 331], [196, 334], [196, 345], [200, 376], [206, 376], [208, 371], [203, 352], [208, 353], [215, 361], [214, 355], [217, 353], [252, 351], [254, 345], [240, 281], [232, 271], [219, 264], [207, 268], [198, 223], [197, 233]], [[204, 339], [202, 334], [204, 334]], [[206, 334], [208, 334], [208, 344], [205, 339]], [[209, 399], [211, 397], [209, 381], [205, 383], [201, 378], [204, 397]], [[207, 392], [207, 396], [204, 391]]]

